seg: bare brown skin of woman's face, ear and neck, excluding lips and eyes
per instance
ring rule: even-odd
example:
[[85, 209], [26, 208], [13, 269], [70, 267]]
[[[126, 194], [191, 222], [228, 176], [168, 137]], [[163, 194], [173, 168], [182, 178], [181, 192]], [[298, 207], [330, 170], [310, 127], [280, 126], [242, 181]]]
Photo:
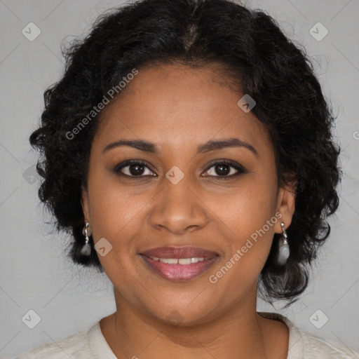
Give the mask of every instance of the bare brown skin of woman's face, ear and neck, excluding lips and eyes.
[[[100, 327], [118, 358], [163, 358], [163, 353], [173, 359], [287, 358], [287, 326], [259, 316], [256, 298], [273, 235], [282, 233], [280, 222], [290, 226], [295, 194], [293, 187], [278, 188], [264, 124], [238, 107], [243, 93], [225, 83], [215, 67], [139, 69], [102, 111], [82, 205], [95, 243], [106, 238], [112, 245], [99, 258], [114, 284], [116, 312], [102, 318]], [[196, 154], [199, 145], [224, 138], [241, 139], [257, 156], [246, 147]], [[120, 139], [147, 140], [158, 154], [129, 146], [104, 151]], [[130, 166], [114, 172], [128, 159], [145, 161], [148, 168], [137, 177], [130, 177]], [[224, 159], [246, 172], [219, 178], [221, 169], [211, 161]], [[177, 184], [165, 177], [174, 165], [184, 174]], [[238, 173], [226, 169], [227, 177]], [[276, 212], [281, 219], [210, 283], [209, 276]], [[218, 252], [219, 259], [192, 280], [165, 280], [138, 253], [168, 245], [205, 248]], [[181, 318], [178, 325], [170, 322], [175, 315]]]

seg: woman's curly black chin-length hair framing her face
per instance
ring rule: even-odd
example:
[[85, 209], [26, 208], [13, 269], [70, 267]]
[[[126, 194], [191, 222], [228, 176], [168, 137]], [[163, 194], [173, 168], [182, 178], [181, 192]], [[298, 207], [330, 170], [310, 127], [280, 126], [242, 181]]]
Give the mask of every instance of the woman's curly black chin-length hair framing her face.
[[41, 153], [36, 165], [43, 177], [39, 198], [57, 230], [72, 234], [69, 255], [74, 262], [102, 271], [95, 250], [89, 257], [80, 253], [81, 186], [86, 187], [90, 144], [102, 112], [76, 136], [74, 128], [133, 69], [219, 65], [228, 83], [256, 101], [252, 113], [271, 135], [278, 186], [297, 182], [287, 229], [290, 257], [284, 266], [276, 264], [280, 235], [275, 234], [259, 277], [265, 300], [294, 302], [308, 285], [310, 264], [329, 236], [326, 218], [337, 210], [341, 179], [340, 148], [332, 135], [335, 118], [305, 49], [288, 39], [270, 15], [234, 0], [140, 0], [101, 15], [90, 34], [75, 39], [63, 54], [64, 75], [45, 91], [41, 126], [30, 143]]

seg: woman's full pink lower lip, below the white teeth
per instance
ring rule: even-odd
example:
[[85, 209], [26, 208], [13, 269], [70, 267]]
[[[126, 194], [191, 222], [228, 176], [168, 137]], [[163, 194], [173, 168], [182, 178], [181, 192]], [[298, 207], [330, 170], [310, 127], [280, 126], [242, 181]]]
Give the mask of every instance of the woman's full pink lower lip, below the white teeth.
[[168, 264], [160, 261], [155, 261], [145, 255], [141, 255], [144, 262], [146, 262], [150, 269], [159, 274], [162, 278], [174, 281], [183, 281], [196, 278], [201, 274], [208, 271], [210, 266], [214, 264], [218, 256], [205, 259], [203, 262], [191, 263], [191, 264]]

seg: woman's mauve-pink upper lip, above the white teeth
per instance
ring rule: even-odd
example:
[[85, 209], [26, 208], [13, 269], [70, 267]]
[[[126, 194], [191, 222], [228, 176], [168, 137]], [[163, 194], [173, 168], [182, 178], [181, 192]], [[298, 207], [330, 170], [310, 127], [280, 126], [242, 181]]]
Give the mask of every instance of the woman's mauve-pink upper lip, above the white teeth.
[[212, 258], [218, 255], [212, 250], [205, 250], [198, 247], [158, 247], [145, 250], [140, 253], [147, 257], [157, 258]]

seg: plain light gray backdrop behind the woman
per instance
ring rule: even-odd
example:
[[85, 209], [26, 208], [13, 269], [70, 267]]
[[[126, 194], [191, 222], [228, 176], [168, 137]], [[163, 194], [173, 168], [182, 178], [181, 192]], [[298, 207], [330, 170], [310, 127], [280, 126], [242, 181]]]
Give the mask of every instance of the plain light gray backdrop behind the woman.
[[[62, 74], [61, 41], [65, 36], [65, 41], [71, 41], [87, 33], [97, 15], [121, 3], [0, 0], [1, 358], [13, 358], [39, 344], [85, 330], [115, 310], [107, 278], [72, 265], [63, 250], [69, 238], [49, 233], [52, 227], [44, 224], [50, 218], [36, 196], [39, 178], [32, 168], [36, 156], [28, 137], [38, 125], [43, 91]], [[287, 310], [261, 302], [259, 310], [279, 311], [305, 330], [359, 351], [359, 1], [245, 4], [268, 11], [313, 59], [323, 91], [338, 116], [336, 135], [344, 168], [340, 207], [330, 220], [332, 234], [313, 267], [304, 297]], [[41, 30], [34, 41], [22, 34], [29, 22]], [[328, 30], [320, 41], [310, 33], [317, 22]], [[311, 31], [318, 38], [324, 29], [317, 27]], [[41, 318], [34, 329], [22, 321], [30, 309]]]

